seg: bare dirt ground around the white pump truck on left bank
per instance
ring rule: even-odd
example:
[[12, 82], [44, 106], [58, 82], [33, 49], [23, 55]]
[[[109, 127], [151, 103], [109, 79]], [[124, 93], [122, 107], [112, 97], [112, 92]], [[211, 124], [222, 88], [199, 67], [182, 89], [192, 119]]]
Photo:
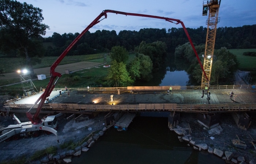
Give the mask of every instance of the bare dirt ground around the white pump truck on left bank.
[[[88, 116], [81, 116], [78, 119], [74, 119], [77, 116], [66, 119], [69, 115], [67, 114], [65, 118], [59, 120], [59, 128], [57, 130], [59, 136], [59, 144], [68, 142], [70, 140], [74, 142], [81, 141], [83, 138], [87, 137], [94, 131], [102, 130], [105, 125], [104, 113], [99, 114], [95, 118], [89, 119]], [[28, 121], [25, 114], [16, 114], [21, 122]], [[5, 117], [0, 117], [0, 128], [6, 127], [10, 124], [16, 124], [11, 117], [8, 117], [8, 121], [4, 121]], [[89, 128], [92, 128], [91, 130]], [[41, 133], [39, 137], [26, 137], [20, 138], [17, 141], [11, 140], [9, 142], [0, 142], [0, 162], [8, 161], [9, 159], [16, 159], [19, 156], [30, 157], [34, 152], [45, 149], [49, 146], [57, 146], [57, 137], [54, 134], [44, 134]], [[29, 161], [27, 162], [29, 163]]]

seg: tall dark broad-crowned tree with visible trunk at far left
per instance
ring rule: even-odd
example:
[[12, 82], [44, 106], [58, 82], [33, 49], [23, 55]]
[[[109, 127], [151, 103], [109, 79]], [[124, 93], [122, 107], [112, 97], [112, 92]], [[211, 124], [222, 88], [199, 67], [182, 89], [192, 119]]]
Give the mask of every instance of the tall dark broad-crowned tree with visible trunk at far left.
[[31, 76], [35, 76], [29, 52], [35, 47], [33, 39], [46, 34], [49, 26], [42, 24], [42, 9], [26, 2], [0, 0], [0, 44], [2, 51], [18, 49], [26, 58]]

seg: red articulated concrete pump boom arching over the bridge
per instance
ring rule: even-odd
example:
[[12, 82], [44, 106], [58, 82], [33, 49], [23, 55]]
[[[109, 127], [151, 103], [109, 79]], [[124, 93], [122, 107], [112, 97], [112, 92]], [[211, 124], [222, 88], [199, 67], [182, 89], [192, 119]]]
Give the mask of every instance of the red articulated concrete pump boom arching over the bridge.
[[[114, 10], [104, 10], [102, 11], [99, 16], [97, 16], [93, 22], [91, 22], [89, 24], [89, 26], [87, 26], [82, 32], [81, 34], [79, 34], [76, 39], [66, 48], [66, 50], [59, 56], [59, 58], [53, 63], [53, 65], [50, 67], [50, 81], [48, 83], [48, 86], [46, 87], [44, 93], [37, 99], [37, 101], [35, 102], [35, 104], [37, 104], [39, 102], [39, 105], [37, 107], [37, 110], [35, 112], [34, 115], [32, 115], [30, 113], [30, 110], [34, 107], [32, 106], [32, 108], [26, 113], [27, 115], [27, 118], [29, 118], [29, 120], [33, 123], [33, 124], [39, 124], [41, 123], [41, 119], [38, 118], [39, 116], [39, 113], [41, 112], [41, 109], [42, 109], [42, 106], [44, 105], [44, 102], [46, 100], [47, 97], [50, 96], [50, 93], [52, 92], [52, 90], [54, 89], [55, 87], [55, 84], [56, 82], [58, 81], [58, 79], [61, 77], [61, 74], [60, 73], [57, 73], [55, 72], [55, 68], [59, 65], [59, 63], [61, 62], [61, 60], [67, 55], [67, 53], [71, 50], [71, 48], [76, 44], [76, 42], [78, 42], [78, 40], [91, 28], [93, 27], [95, 24], [99, 23], [101, 20], [103, 19], [106, 19], [107, 18], [107, 13], [110, 12], [110, 13], [116, 13], [116, 14], [122, 14], [122, 15], [131, 15], [131, 16], [142, 16], [142, 17], [151, 17], [151, 18], [157, 18], [157, 19], [163, 19], [165, 21], [168, 21], [168, 22], [171, 22], [171, 23], [175, 23], [175, 24], [181, 24], [181, 26], [183, 27], [184, 31], [185, 31], [185, 34], [187, 35], [188, 37], [188, 40], [193, 48], [193, 51], [195, 52], [196, 54], [196, 58], [203, 70], [203, 73], [204, 75], [206, 76], [206, 73], [204, 72], [204, 69], [203, 69], [203, 65], [199, 59], [199, 56], [196, 52], [196, 49], [192, 43], [192, 40], [188, 34], [188, 31], [187, 29], [185, 28], [183, 22], [181, 22], [180, 19], [172, 19], [172, 18], [168, 18], [168, 17], [160, 17], [160, 16], [153, 16], [153, 15], [145, 15], [145, 14], [138, 14], [138, 13], [128, 13], [128, 12], [121, 12], [121, 11], [114, 11]], [[104, 16], [102, 19], [101, 17]], [[57, 78], [57, 80], [54, 82], [54, 80]], [[206, 76], [207, 77], [207, 76]], [[34, 105], [35, 105], [34, 104]]]

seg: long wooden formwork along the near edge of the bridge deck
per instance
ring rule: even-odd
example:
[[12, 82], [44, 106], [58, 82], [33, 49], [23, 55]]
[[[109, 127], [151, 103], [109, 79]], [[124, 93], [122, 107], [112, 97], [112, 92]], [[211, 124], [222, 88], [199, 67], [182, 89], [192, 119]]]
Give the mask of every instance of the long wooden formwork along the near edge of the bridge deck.
[[[34, 104], [9, 104], [11, 110], [23, 113]], [[8, 106], [4, 106], [8, 108]], [[34, 105], [34, 111], [38, 104]], [[61, 111], [64, 113], [78, 112], [144, 112], [144, 111], [176, 111], [195, 113], [253, 112], [256, 104], [222, 105], [222, 104], [138, 104], [138, 105], [98, 105], [98, 104], [44, 104], [42, 110]], [[246, 127], [245, 127], [246, 128]]]

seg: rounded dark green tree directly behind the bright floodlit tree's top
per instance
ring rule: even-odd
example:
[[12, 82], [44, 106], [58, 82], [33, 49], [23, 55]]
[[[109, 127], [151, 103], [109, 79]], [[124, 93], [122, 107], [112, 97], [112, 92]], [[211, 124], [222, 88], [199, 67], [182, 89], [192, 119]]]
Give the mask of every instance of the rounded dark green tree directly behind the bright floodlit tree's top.
[[114, 46], [110, 51], [110, 58], [116, 60], [117, 63], [126, 63], [129, 58], [128, 51], [121, 46]]

